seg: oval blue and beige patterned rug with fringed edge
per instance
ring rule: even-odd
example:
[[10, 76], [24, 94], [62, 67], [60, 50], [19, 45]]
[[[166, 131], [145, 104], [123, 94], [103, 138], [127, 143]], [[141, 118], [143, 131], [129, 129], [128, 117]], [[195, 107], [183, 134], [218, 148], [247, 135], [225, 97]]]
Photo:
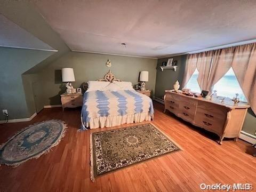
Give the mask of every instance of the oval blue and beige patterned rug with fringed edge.
[[26, 127], [0, 147], [0, 164], [18, 166], [48, 153], [65, 136], [66, 128], [65, 123], [59, 120]]

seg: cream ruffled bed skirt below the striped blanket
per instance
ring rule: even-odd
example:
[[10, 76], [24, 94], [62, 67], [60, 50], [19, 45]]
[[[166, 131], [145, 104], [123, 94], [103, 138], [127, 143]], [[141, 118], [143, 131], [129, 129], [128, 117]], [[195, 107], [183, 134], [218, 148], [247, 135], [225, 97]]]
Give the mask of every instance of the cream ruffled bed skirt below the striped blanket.
[[150, 113], [137, 113], [132, 115], [118, 115], [118, 116], [107, 116], [107, 117], [97, 117], [90, 119], [90, 122], [84, 124], [82, 121], [82, 129], [86, 130], [86, 128], [90, 127], [90, 129], [103, 128], [103, 127], [111, 127], [122, 125], [125, 123], [138, 123], [143, 121], [151, 121], [153, 116], [151, 117]]

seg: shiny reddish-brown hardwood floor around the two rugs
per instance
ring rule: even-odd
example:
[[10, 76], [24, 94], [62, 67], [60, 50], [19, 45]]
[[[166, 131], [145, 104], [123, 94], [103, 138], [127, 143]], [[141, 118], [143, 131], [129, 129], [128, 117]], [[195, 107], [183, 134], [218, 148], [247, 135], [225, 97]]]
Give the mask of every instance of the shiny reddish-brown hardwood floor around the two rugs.
[[159, 103], [154, 106], [152, 123], [183, 150], [103, 175], [95, 182], [90, 180], [89, 135], [106, 129], [77, 132], [79, 109], [43, 109], [31, 122], [0, 125], [0, 143], [23, 127], [47, 119], [62, 119], [68, 125], [65, 138], [49, 154], [15, 168], [0, 166], [0, 191], [202, 191], [201, 183], [256, 187], [256, 158], [249, 143], [224, 140], [220, 146], [212, 133], [164, 114]]

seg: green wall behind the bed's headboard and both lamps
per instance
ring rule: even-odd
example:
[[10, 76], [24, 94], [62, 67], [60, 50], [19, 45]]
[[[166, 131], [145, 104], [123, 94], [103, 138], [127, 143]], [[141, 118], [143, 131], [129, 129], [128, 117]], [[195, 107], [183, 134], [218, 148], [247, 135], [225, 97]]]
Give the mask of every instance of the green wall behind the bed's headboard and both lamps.
[[[107, 60], [110, 59], [112, 66], [106, 67]], [[149, 82], [146, 88], [155, 90], [157, 59], [123, 57], [117, 55], [68, 52], [51, 65], [44, 68], [41, 73], [43, 84], [43, 105], [59, 105], [60, 94], [65, 92], [65, 83], [61, 82], [61, 68], [74, 68], [76, 82], [74, 87], [80, 87], [83, 82], [97, 80], [110, 69], [116, 78], [122, 81], [130, 81], [133, 84], [138, 83], [139, 73], [142, 70], [149, 71]], [[152, 93], [152, 94], [153, 94]]]

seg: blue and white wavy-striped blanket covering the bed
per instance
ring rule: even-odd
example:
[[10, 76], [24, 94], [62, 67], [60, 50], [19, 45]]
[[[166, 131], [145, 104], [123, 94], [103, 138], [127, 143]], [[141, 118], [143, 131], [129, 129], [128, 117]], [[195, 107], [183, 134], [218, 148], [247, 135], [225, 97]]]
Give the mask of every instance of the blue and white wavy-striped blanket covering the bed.
[[82, 130], [93, 118], [139, 113], [148, 113], [153, 117], [153, 102], [147, 95], [135, 90], [85, 92], [81, 113]]

